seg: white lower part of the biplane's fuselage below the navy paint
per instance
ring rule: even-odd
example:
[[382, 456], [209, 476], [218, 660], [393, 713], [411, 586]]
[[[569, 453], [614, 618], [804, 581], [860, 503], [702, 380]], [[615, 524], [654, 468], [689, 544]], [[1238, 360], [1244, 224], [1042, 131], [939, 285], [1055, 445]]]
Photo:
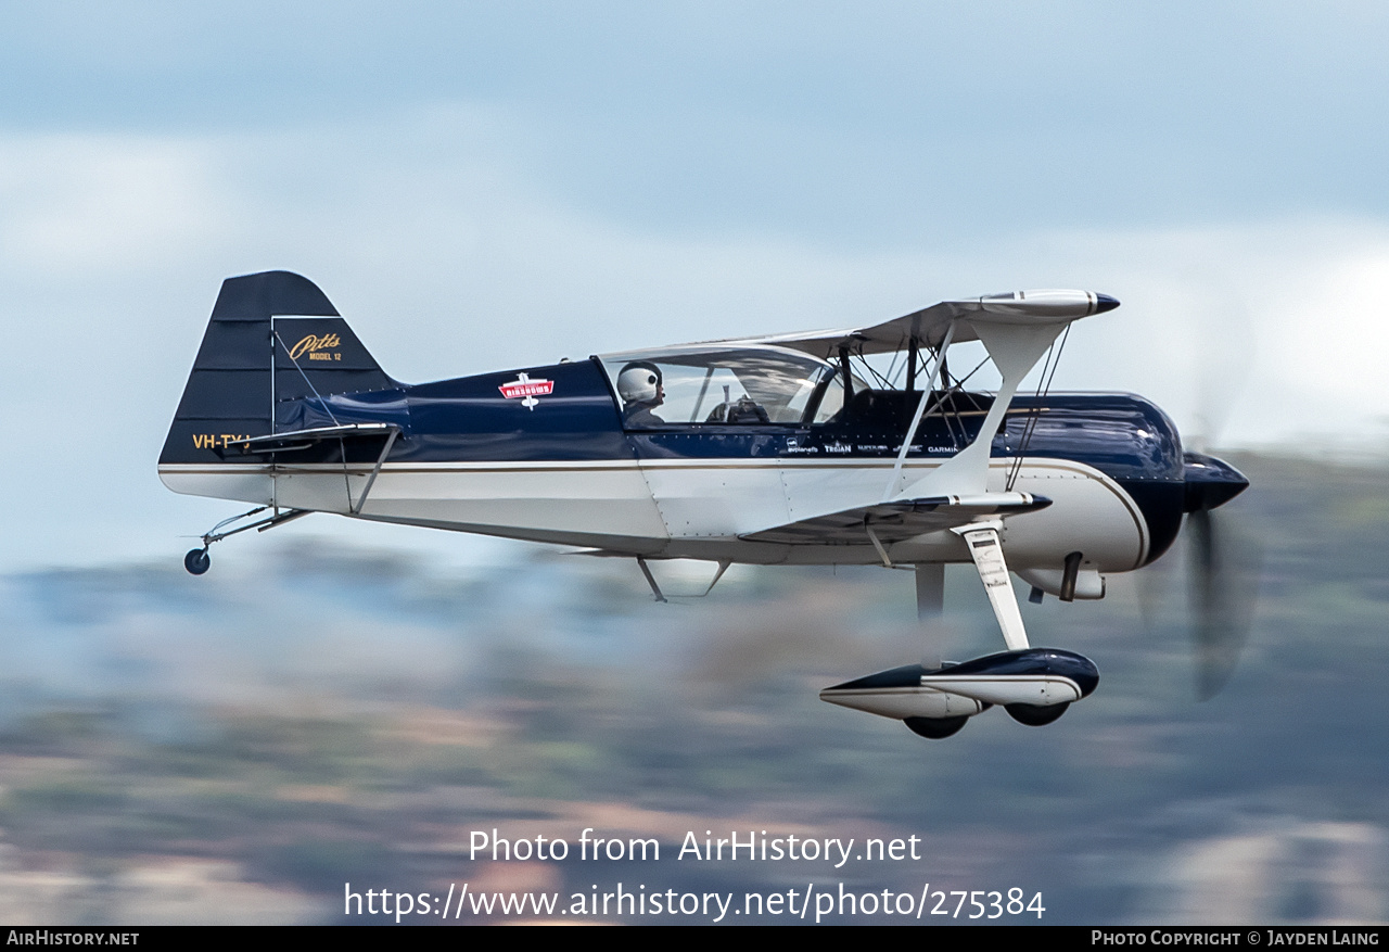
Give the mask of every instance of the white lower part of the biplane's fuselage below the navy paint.
[[[908, 461], [915, 479], [942, 460]], [[1006, 486], [1013, 460], [990, 461], [989, 489]], [[181, 493], [353, 516], [369, 464], [163, 464]], [[871, 564], [861, 543], [779, 545], [739, 536], [881, 496], [882, 459], [654, 459], [525, 463], [386, 463], [356, 518], [603, 549], [613, 555], [751, 564]], [[1147, 560], [1147, 524], [1135, 500], [1092, 466], [1028, 459], [1013, 489], [1049, 509], [1006, 520], [1013, 568], [1054, 568], [1083, 552], [1088, 568], [1131, 571]], [[968, 561], [964, 542], [938, 531], [888, 546], [893, 563]]]

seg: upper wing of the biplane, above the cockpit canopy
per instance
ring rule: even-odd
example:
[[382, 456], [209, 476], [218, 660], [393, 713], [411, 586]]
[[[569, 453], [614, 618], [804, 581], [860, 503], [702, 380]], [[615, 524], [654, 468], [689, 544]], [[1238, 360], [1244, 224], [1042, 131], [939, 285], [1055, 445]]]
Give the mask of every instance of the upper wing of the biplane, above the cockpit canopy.
[[978, 339], [971, 322], [988, 324], [1054, 324], [1074, 321], [1118, 307], [1108, 295], [1093, 290], [1013, 290], [964, 300], [945, 300], [920, 311], [896, 317], [872, 327], [774, 334], [761, 338], [733, 338], [706, 343], [763, 343], [803, 350], [817, 357], [831, 357], [840, 347], [854, 353], [892, 353], [904, 350], [913, 338], [920, 345], [936, 347], [945, 339], [950, 322], [970, 318], [956, 327], [954, 340]]

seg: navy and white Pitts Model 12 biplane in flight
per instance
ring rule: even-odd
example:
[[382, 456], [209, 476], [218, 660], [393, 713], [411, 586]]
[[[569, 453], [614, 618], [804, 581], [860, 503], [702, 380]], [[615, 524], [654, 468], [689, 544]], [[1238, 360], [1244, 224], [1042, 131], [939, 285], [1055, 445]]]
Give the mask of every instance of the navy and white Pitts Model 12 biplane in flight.
[[[1129, 393], [1050, 392], [1075, 321], [1107, 295], [947, 300], [871, 327], [600, 354], [431, 384], [389, 377], [307, 278], [229, 278], [160, 456], [181, 493], [256, 509], [208, 546], [308, 513], [424, 525], [650, 563], [882, 564], [915, 575], [925, 657], [826, 688], [828, 702], [949, 737], [1004, 707], [1054, 721], [1096, 666], [1029, 643], [1031, 599], [1104, 596], [1150, 564], [1183, 516], [1249, 484], [1183, 450]], [[949, 363], [982, 343], [993, 391]], [[978, 347], [975, 347], [978, 350]], [[1042, 364], [1043, 385], [1020, 393]], [[1208, 538], [1208, 534], [1207, 534]], [[1004, 650], [943, 662], [931, 641], [945, 566], [972, 566]]]

